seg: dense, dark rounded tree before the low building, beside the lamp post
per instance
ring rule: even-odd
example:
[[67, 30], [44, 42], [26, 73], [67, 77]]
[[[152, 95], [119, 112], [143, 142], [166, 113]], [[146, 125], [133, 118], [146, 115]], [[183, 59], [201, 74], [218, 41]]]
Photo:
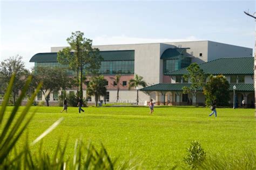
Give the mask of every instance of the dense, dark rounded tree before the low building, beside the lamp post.
[[204, 87], [204, 95], [206, 98], [206, 105], [211, 105], [213, 100], [216, 100], [217, 105], [227, 106], [230, 100], [230, 94], [228, 88], [230, 84], [228, 83], [226, 77], [223, 75], [209, 77], [209, 81]]

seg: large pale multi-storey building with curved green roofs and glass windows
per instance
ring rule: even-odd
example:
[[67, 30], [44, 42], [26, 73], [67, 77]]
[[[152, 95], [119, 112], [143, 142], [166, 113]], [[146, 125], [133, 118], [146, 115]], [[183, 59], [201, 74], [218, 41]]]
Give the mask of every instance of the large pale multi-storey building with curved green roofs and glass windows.
[[[252, 48], [213, 41], [102, 45], [93, 47], [99, 48], [100, 54], [103, 56], [100, 73], [104, 75], [106, 80], [107, 96], [105, 98], [107, 102], [116, 102], [117, 87], [112, 79], [116, 74], [122, 74], [119, 102], [135, 103], [137, 90], [128, 90], [129, 80], [134, 77], [134, 74], [143, 76], [149, 86], [159, 83], [174, 83], [176, 80], [171, 79], [169, 75], [164, 73], [185, 68], [192, 62], [204, 63], [223, 57], [252, 56]], [[30, 62], [35, 62], [35, 67], [65, 67], [57, 62], [57, 52], [63, 48], [51, 47], [50, 53], [35, 54]], [[86, 96], [86, 83], [84, 83], [83, 87], [84, 96]], [[68, 93], [76, 93], [76, 88], [68, 89], [67, 91]], [[60, 93], [60, 91], [55, 91], [50, 94], [50, 101], [56, 102]], [[145, 91], [139, 91], [140, 104], [149, 101], [150, 97]], [[103, 100], [103, 97], [101, 99]], [[38, 94], [37, 100], [43, 100], [42, 94]], [[93, 102], [94, 98], [88, 98], [88, 100]]]

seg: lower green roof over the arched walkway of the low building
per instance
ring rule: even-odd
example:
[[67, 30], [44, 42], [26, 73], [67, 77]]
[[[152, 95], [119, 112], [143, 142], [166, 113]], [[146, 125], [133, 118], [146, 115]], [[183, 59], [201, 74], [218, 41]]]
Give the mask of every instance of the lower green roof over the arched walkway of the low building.
[[[235, 91], [254, 91], [254, 84], [230, 84], [230, 91], [233, 91], [233, 86], [236, 86]], [[183, 87], [190, 87], [190, 83], [159, 83], [153, 86], [145, 87], [140, 89], [140, 91], [183, 91]], [[203, 91], [200, 87], [199, 91]]]

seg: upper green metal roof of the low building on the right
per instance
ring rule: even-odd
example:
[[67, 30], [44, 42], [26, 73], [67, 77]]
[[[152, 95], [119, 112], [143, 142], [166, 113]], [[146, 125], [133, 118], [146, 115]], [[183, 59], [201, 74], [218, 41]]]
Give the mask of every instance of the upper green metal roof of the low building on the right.
[[[238, 58], [220, 58], [217, 60], [208, 61], [199, 64], [200, 68], [206, 74], [254, 74], [254, 58], [253, 57], [238, 57]], [[175, 71], [165, 73], [165, 75], [184, 75], [188, 74], [186, 68], [181, 68]]]

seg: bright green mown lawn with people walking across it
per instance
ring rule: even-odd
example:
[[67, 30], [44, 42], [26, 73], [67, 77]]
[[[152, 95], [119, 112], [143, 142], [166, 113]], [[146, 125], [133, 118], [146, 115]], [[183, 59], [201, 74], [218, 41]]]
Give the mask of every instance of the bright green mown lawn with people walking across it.
[[[72, 157], [75, 140], [82, 138], [97, 147], [103, 143], [112, 158], [133, 159], [143, 168], [170, 168], [183, 164], [186, 148], [198, 140], [207, 154], [235, 157], [256, 151], [254, 109], [218, 109], [218, 117], [208, 117], [208, 108], [156, 107], [153, 115], [145, 107], [68, 108], [32, 107], [35, 117], [29, 125], [32, 141], [60, 117], [64, 121], [43, 139], [44, 150], [53, 152], [58, 138], [69, 138], [68, 155]], [[8, 108], [10, 112], [12, 107]], [[21, 107], [22, 109], [22, 107]], [[6, 121], [6, 117], [5, 117]], [[25, 135], [19, 141], [22, 147]], [[37, 152], [38, 145], [32, 147]]]

